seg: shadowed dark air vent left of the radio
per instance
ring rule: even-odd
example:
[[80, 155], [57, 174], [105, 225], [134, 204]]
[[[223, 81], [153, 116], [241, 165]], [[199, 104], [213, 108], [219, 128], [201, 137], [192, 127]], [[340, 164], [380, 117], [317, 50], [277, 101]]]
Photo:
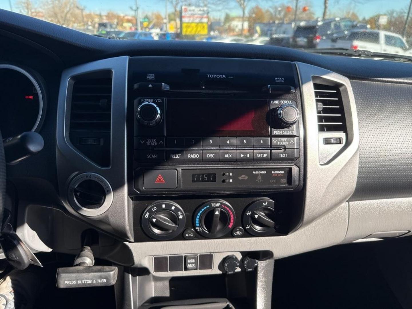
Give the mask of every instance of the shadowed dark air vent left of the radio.
[[94, 163], [110, 166], [111, 71], [82, 75], [73, 82], [70, 141]]

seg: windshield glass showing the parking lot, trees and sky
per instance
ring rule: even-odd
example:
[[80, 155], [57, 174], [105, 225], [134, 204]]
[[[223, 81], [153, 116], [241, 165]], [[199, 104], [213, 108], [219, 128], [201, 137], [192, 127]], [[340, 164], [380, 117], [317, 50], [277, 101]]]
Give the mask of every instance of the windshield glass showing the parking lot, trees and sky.
[[411, 0], [8, 0], [0, 8], [115, 40], [196, 40], [412, 56]]

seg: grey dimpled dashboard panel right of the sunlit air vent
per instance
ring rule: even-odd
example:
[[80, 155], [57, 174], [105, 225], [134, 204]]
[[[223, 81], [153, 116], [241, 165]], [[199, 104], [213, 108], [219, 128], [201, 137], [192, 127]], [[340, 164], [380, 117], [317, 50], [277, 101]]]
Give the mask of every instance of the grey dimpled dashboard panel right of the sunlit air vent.
[[412, 86], [351, 81], [359, 171], [351, 201], [412, 197]]

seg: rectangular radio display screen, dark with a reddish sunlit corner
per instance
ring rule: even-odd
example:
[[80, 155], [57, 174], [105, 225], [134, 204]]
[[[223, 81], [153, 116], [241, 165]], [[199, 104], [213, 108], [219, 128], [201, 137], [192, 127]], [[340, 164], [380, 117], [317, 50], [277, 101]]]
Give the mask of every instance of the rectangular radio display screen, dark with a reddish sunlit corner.
[[168, 98], [168, 136], [269, 136], [267, 100]]

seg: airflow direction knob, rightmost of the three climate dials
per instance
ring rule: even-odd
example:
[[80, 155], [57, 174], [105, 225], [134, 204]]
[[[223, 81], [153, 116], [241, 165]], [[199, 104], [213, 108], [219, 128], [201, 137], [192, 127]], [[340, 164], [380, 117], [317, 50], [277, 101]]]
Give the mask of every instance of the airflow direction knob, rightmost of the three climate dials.
[[276, 231], [276, 212], [274, 201], [260, 199], [253, 202], [243, 214], [243, 225], [248, 233], [267, 236]]

